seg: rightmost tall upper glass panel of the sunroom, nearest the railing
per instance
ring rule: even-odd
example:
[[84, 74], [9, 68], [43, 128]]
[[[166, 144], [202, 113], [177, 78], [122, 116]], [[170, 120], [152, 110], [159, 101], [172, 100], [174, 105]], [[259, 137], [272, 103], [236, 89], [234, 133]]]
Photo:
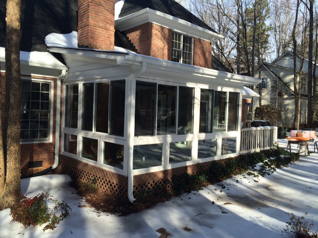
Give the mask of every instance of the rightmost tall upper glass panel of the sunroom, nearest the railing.
[[229, 92], [227, 130], [237, 130], [239, 121], [239, 93]]

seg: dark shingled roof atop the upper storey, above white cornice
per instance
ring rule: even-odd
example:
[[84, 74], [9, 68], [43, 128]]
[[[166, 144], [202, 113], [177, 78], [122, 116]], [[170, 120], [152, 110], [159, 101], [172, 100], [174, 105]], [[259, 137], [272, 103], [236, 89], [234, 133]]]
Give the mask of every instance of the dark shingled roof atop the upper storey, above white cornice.
[[[117, 3], [119, 1], [120, 0], [116, 0], [115, 2]], [[175, 0], [125, 0], [119, 17], [125, 17], [146, 8], [166, 13], [172, 17], [177, 17], [181, 20], [217, 33]]]

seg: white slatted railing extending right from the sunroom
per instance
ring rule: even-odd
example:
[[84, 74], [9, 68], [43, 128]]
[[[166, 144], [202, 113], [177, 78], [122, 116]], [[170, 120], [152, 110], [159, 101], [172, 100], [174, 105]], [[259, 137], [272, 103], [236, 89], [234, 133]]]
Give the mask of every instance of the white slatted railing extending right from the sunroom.
[[273, 149], [277, 142], [277, 127], [251, 127], [241, 129], [240, 154]]

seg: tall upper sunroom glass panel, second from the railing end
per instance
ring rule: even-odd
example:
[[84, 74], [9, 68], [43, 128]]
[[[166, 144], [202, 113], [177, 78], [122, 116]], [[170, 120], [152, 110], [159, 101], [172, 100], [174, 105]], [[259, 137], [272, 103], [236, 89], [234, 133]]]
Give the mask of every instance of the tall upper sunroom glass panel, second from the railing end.
[[226, 92], [215, 91], [213, 131], [225, 131], [226, 128]]

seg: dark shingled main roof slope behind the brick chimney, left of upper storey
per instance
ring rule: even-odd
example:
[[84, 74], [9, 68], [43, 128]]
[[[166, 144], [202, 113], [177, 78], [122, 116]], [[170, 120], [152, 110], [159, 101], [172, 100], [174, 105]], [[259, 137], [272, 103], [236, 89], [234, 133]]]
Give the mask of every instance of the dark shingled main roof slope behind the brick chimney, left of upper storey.
[[[22, 0], [20, 50], [49, 52], [45, 36], [77, 31], [77, 11], [78, 0]], [[0, 1], [0, 47], [5, 47], [5, 16], [6, 1]], [[114, 45], [134, 51], [119, 30], [115, 31]]]

